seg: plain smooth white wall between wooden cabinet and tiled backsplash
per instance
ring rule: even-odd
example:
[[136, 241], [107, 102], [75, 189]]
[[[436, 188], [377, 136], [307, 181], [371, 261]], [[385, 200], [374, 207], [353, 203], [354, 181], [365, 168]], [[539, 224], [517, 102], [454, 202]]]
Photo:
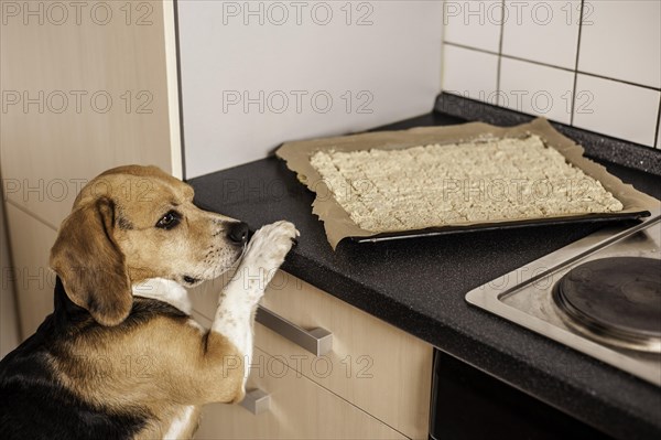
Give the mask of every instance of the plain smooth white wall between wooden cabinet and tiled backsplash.
[[430, 111], [441, 22], [441, 1], [180, 1], [186, 176]]

